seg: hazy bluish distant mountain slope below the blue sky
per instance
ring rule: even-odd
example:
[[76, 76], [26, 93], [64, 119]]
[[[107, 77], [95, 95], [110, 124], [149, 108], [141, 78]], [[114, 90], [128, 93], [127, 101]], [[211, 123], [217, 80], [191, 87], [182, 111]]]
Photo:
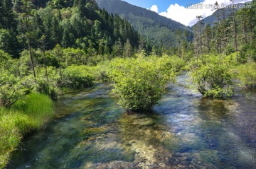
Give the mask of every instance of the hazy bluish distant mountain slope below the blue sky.
[[177, 30], [187, 31], [188, 40], [193, 39], [193, 33], [190, 27], [173, 21], [164, 16], [159, 16], [154, 11], [146, 8], [131, 5], [120, 0], [96, 0], [100, 8], [105, 8], [110, 13], [117, 13], [126, 18], [136, 30], [144, 37], [159, 42], [165, 46], [176, 46], [178, 38]]

